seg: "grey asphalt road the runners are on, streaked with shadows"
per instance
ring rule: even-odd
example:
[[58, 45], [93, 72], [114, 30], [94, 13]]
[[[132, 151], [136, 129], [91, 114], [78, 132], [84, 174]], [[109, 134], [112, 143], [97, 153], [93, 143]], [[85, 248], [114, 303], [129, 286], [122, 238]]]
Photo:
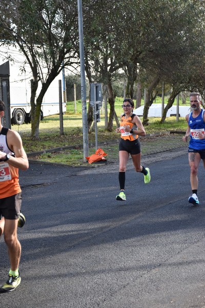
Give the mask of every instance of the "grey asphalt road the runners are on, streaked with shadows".
[[[204, 169], [201, 163], [200, 206], [192, 206], [186, 150], [157, 157], [142, 158], [151, 170], [149, 184], [129, 163], [125, 202], [115, 200], [115, 164], [30, 163], [20, 171], [22, 282], [0, 294], [0, 306], [204, 308]], [[3, 238], [0, 246], [4, 283]]]

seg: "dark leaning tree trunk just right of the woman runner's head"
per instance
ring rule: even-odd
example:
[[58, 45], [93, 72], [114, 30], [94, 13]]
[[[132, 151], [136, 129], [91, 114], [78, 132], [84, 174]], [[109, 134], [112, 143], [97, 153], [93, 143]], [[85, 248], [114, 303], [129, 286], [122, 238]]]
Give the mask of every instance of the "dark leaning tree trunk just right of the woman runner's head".
[[150, 106], [152, 105], [152, 103], [154, 102], [157, 96], [158, 92], [156, 91], [156, 93], [154, 94], [153, 91], [156, 88], [158, 83], [159, 83], [159, 76], [156, 76], [155, 79], [150, 84], [150, 86], [148, 87], [146, 103], [145, 103], [144, 111], [143, 111], [143, 122], [142, 122], [143, 125], [149, 125], [148, 112], [149, 112]]

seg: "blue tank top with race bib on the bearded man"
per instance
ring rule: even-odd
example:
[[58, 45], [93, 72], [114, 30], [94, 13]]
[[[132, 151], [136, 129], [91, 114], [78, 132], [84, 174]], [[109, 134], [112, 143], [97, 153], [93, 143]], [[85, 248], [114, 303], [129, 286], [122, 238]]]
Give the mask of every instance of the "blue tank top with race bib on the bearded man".
[[189, 126], [190, 126], [190, 142], [189, 147], [196, 150], [205, 150], [205, 139], [198, 138], [198, 132], [205, 132], [205, 122], [203, 121], [204, 109], [201, 110], [197, 118], [192, 117], [192, 112], [189, 114]]

